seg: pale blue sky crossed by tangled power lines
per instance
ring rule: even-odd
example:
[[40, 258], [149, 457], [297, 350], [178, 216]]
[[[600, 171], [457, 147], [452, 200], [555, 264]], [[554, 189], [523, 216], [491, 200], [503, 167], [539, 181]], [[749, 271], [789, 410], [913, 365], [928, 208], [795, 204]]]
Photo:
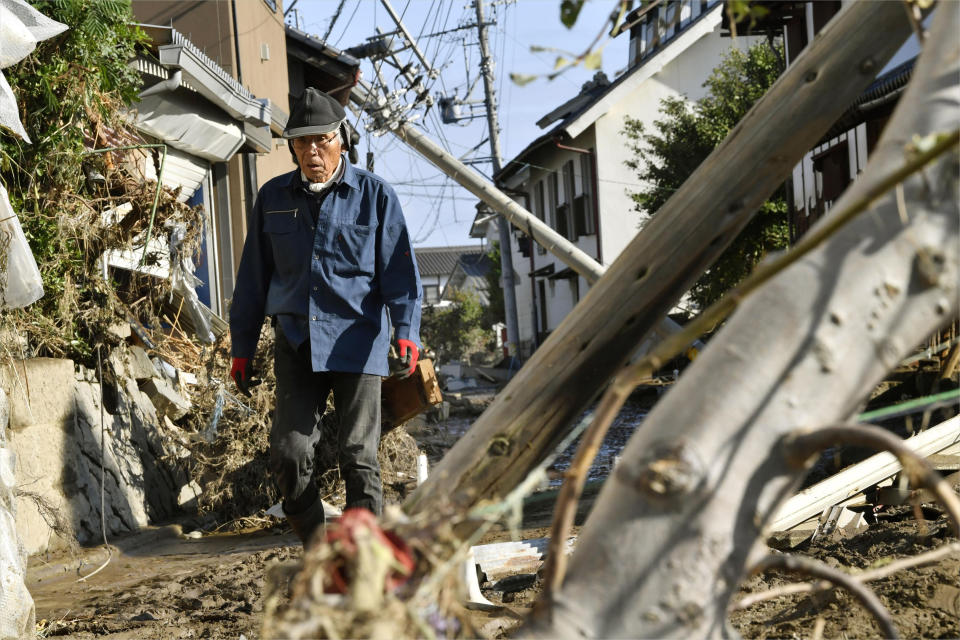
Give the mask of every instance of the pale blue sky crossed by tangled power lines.
[[[291, 1], [284, 2], [285, 7], [293, 9], [287, 13], [288, 24], [321, 39], [327, 37], [328, 44], [341, 50], [366, 43], [368, 38], [376, 36], [377, 28], [382, 32], [397, 29], [381, 0], [298, 0], [295, 5]], [[477, 29], [432, 34], [474, 24], [476, 14], [472, 0], [390, 1], [407, 31], [417, 40], [424, 57], [439, 70], [437, 78], [425, 82], [434, 100], [454, 94], [464, 98], [480, 69]], [[488, 39], [494, 59], [503, 164], [544, 132], [536, 126], [537, 120], [577, 95], [583, 83], [596, 73], [595, 69], [578, 66], [553, 80], [543, 77], [554, 70], [558, 56], [569, 59], [584, 51], [603, 30], [617, 4], [616, 0], [588, 0], [575, 26], [567, 29], [560, 21], [560, 0], [484, 1], [486, 20], [496, 23], [488, 28]], [[603, 41], [602, 69], [611, 80], [626, 67], [627, 38], [627, 34], [623, 34]], [[395, 47], [399, 46], [399, 39], [394, 42]], [[531, 47], [566, 52], [531, 51]], [[411, 60], [419, 64], [409, 49], [398, 53], [397, 58], [402, 65]], [[365, 81], [375, 82], [375, 69], [369, 59], [362, 61], [361, 71]], [[395, 82], [399, 76], [397, 69], [381, 62], [380, 71], [391, 90], [402, 87], [402, 81]], [[510, 80], [510, 73], [540, 77], [521, 86]], [[403, 98], [412, 95], [407, 93]], [[482, 101], [482, 79], [475, 83], [470, 98]], [[444, 124], [437, 105], [426, 113], [422, 108], [413, 113], [419, 116], [414, 124], [453, 155], [487, 159], [473, 168], [487, 177], [491, 175], [490, 146], [483, 142], [487, 139], [485, 117]], [[477, 113], [485, 114], [482, 108]], [[354, 122], [357, 117], [350, 115], [350, 120]], [[403, 201], [414, 246], [478, 244], [478, 240], [469, 236], [476, 213], [476, 197], [392, 134], [370, 135], [364, 123], [365, 118], [360, 119], [357, 126], [361, 133], [359, 164], [365, 166], [367, 152], [373, 152], [375, 173], [389, 181]], [[479, 148], [473, 150], [477, 145]]]

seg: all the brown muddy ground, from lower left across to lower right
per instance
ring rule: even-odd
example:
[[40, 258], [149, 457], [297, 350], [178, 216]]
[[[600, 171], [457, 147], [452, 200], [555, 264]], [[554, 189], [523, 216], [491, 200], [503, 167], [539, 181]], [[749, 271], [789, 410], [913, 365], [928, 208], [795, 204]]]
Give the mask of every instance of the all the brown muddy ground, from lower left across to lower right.
[[[626, 436], [642, 418], [641, 408], [628, 410], [613, 439]], [[470, 423], [451, 420], [443, 428], [412, 429], [422, 449], [436, 458]], [[622, 446], [622, 442], [620, 442]], [[618, 451], [601, 453], [591, 478], [605, 476]], [[555, 473], [558, 476], [559, 473]], [[551, 484], [556, 484], [554, 481]], [[581, 520], [597, 491], [591, 484]], [[552, 505], [542, 494], [525, 510], [523, 539], [548, 535]], [[867, 568], [918, 554], [952, 540], [946, 517], [936, 508], [917, 521], [909, 507], [878, 514], [870, 528], [848, 539], [804, 543], [796, 552], [837, 567]], [[237, 640], [260, 637], [272, 568], [301, 556], [297, 540], [277, 520], [249, 521], [257, 526], [229, 534], [184, 534], [181, 525], [154, 528], [111, 541], [107, 566], [88, 576], [106, 559], [103, 546], [38, 555], [30, 560], [28, 588], [37, 607], [38, 636], [64, 638], [210, 638]], [[197, 537], [198, 536], [198, 537]], [[491, 532], [481, 542], [509, 539]], [[749, 578], [742, 594], [763, 591], [793, 578], [767, 573]], [[532, 584], [530, 584], [532, 582]], [[960, 637], [960, 554], [938, 563], [909, 569], [872, 583], [907, 638]], [[509, 637], [539, 593], [534, 576], [508, 590], [484, 584], [484, 595], [503, 608], [475, 613], [474, 627], [486, 637]], [[514, 590], [516, 589], [516, 590]], [[881, 637], [870, 616], [846, 593], [789, 596], [766, 601], [731, 616], [747, 638], [808, 638], [823, 618], [826, 638]]]

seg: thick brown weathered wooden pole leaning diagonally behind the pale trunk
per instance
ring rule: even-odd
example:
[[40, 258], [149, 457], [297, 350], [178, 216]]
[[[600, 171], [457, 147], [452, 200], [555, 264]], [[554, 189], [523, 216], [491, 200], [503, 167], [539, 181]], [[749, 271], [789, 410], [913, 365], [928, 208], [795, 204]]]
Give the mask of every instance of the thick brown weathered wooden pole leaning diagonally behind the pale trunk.
[[[410, 513], [448, 503], [469, 508], [516, 486], [870, 84], [910, 28], [900, 3], [845, 6], [637, 235], [404, 508]], [[422, 134], [407, 129], [412, 128], [395, 133], [416, 147]]]

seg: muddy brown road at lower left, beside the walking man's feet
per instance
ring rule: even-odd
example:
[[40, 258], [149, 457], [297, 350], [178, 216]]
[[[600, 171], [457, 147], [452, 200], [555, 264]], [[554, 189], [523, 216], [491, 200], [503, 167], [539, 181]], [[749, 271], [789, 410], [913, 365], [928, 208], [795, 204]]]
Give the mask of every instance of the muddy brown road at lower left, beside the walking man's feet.
[[27, 588], [46, 637], [253, 640], [269, 568], [300, 553], [290, 533], [190, 538], [171, 525], [116, 541], [83, 582], [106, 547], [35, 556]]

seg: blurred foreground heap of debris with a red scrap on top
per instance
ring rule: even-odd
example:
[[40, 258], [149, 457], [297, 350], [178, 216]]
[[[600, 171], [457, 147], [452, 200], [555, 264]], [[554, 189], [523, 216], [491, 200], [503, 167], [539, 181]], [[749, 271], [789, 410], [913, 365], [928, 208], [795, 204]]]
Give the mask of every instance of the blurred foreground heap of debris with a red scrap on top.
[[[456, 521], [447, 513], [414, 523], [388, 508], [379, 523], [331, 525], [301, 562], [272, 576], [263, 636], [477, 637], [461, 604], [460, 564], [434, 560], [462, 547]], [[344, 588], [335, 575], [348, 576]]]

